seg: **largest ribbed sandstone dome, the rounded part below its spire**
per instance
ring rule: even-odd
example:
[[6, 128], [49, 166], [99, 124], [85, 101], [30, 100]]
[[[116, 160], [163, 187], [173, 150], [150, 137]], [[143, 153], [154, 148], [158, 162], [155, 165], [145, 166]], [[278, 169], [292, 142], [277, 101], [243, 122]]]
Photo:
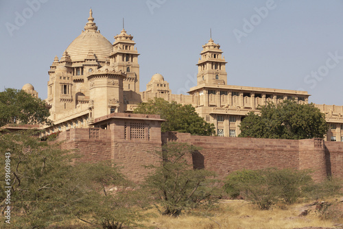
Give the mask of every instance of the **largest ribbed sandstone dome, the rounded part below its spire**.
[[83, 61], [92, 50], [97, 60], [105, 61], [112, 51], [112, 44], [99, 32], [88, 29], [67, 47], [71, 61]]

